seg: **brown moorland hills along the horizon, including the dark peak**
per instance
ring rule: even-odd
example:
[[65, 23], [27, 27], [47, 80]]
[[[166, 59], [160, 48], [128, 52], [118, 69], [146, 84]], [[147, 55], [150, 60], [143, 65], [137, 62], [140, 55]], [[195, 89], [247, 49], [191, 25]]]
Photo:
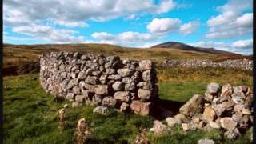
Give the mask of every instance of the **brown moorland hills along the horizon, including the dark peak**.
[[95, 43], [42, 45], [3, 44], [3, 72], [5, 74], [13, 74], [16, 71], [20, 74], [20, 71], [34, 70], [34, 67], [38, 67], [38, 56], [40, 54], [62, 50], [104, 54], [106, 56], [118, 55], [120, 58], [138, 60], [151, 59], [155, 62], [162, 62], [166, 59], [211, 59], [214, 62], [222, 62], [226, 59], [252, 59], [252, 57], [233, 54], [222, 50], [195, 48], [180, 42], [167, 42], [156, 47], [158, 48], [140, 49]]

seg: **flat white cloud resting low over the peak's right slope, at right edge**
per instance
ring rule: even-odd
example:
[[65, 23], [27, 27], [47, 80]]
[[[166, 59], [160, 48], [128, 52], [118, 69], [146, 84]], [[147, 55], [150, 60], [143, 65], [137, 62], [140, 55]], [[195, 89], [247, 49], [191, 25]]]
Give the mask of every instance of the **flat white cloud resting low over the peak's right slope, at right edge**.
[[253, 39], [238, 40], [232, 43], [213, 42], [213, 41], [199, 41], [189, 43], [191, 46], [216, 48], [218, 50], [231, 51], [238, 54], [252, 54], [253, 53]]

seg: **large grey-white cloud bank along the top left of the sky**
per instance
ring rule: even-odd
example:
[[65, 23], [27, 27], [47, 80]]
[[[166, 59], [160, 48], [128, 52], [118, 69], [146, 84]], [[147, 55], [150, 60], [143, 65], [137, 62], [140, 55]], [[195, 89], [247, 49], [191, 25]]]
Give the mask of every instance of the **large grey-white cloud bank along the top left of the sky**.
[[63, 26], [87, 26], [88, 19], [107, 21], [129, 14], [162, 14], [174, 9], [172, 0], [6, 0], [3, 22], [6, 26], [54, 21]]

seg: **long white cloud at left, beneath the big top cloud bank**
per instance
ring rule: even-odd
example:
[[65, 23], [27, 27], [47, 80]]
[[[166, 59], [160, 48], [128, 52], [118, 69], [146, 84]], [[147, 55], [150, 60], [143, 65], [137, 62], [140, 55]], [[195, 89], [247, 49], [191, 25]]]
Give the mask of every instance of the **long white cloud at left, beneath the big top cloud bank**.
[[50, 41], [53, 43], [73, 43], [85, 41], [85, 37], [75, 36], [74, 34], [77, 32], [74, 30], [55, 29], [51, 26], [16, 26], [13, 28], [13, 32], [25, 34], [31, 38]]

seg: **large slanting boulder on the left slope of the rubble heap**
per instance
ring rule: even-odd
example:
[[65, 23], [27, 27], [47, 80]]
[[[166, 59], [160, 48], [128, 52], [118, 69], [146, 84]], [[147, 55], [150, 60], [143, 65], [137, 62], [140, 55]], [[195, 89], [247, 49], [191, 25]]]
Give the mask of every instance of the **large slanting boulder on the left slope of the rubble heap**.
[[194, 114], [202, 112], [202, 106], [204, 105], [204, 98], [199, 95], [195, 94], [185, 105], [183, 105], [179, 112], [186, 116], [193, 116]]

